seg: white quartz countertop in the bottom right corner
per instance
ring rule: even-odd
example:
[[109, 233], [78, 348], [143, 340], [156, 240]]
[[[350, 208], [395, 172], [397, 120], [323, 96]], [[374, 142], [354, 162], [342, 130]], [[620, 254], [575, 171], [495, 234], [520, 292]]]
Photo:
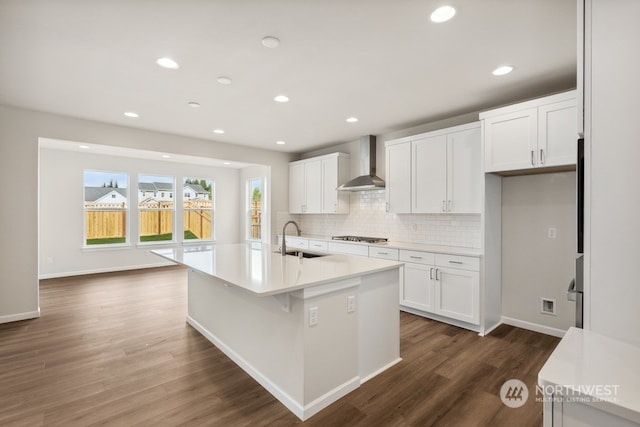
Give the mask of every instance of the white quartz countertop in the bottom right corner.
[[538, 384], [560, 386], [569, 398], [640, 423], [640, 347], [570, 328], [538, 373]]

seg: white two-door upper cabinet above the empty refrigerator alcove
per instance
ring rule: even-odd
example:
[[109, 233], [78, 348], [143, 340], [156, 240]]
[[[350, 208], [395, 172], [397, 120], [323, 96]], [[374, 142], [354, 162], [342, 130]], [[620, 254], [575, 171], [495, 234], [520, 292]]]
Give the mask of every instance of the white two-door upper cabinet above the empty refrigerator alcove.
[[485, 172], [575, 165], [576, 91], [485, 111]]

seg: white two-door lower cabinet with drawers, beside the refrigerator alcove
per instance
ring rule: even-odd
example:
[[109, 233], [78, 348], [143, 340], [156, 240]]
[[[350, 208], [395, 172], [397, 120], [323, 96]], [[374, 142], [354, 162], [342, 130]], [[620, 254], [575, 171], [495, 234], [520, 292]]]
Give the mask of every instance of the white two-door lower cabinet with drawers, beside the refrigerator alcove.
[[400, 306], [480, 324], [479, 259], [400, 251], [405, 261]]

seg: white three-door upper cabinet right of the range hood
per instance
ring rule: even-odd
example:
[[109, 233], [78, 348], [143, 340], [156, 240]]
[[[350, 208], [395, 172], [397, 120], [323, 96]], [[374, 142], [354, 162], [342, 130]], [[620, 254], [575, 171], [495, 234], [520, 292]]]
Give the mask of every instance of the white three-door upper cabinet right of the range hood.
[[479, 122], [386, 143], [387, 210], [480, 213]]

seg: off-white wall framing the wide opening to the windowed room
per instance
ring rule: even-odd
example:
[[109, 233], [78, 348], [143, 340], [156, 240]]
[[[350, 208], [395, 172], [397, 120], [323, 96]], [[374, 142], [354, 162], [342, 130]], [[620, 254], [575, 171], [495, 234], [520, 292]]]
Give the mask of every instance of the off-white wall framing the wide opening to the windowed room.
[[[273, 212], [288, 210], [293, 155], [0, 106], [0, 323], [38, 314], [38, 138], [139, 148], [271, 166]], [[271, 225], [275, 227], [276, 215]], [[274, 234], [275, 235], [275, 234]]]

